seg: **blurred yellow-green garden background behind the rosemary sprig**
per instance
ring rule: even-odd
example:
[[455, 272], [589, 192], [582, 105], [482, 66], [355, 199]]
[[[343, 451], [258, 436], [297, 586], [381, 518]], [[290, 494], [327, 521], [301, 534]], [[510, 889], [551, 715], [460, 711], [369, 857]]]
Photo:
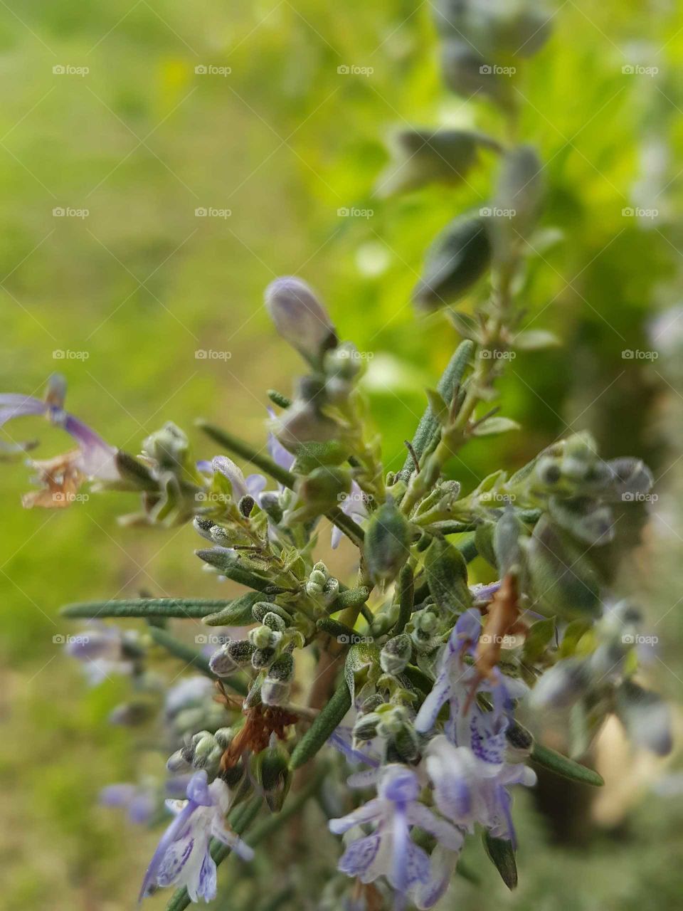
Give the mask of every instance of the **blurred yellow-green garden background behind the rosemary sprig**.
[[[524, 430], [472, 445], [454, 475], [472, 486], [586, 426], [606, 456], [646, 456], [668, 494], [622, 584], [644, 593], [653, 622], [664, 617], [652, 675], [679, 698], [681, 326], [660, 338], [671, 363], [622, 352], [652, 348], [648, 324], [681, 290], [683, 15], [666, 2], [568, 0], [554, 26], [518, 87], [520, 135], [546, 162], [544, 225], [562, 230], [529, 261], [525, 323], [563, 345], [510, 364], [502, 401]], [[501, 130], [485, 102], [443, 89], [428, 4], [14, 0], [0, 9], [0, 79], [0, 389], [41, 394], [60, 370], [69, 409], [131, 451], [172, 419], [212, 455], [198, 416], [260, 440], [265, 389], [289, 392], [300, 369], [270, 332], [262, 291], [296, 273], [342, 337], [374, 354], [372, 419], [387, 466], [400, 466], [423, 387], [457, 342], [442, 316], [415, 317], [410, 290], [436, 231], [485, 203], [494, 161], [459, 189], [381, 200], [383, 140], [407, 125]], [[37, 420], [10, 429], [40, 435], [48, 453], [64, 447]], [[97, 807], [104, 784], [135, 774], [129, 733], [106, 722], [125, 683], [85, 688], [55, 641], [75, 631], [57, 611], [141, 589], [206, 597], [217, 583], [199, 571], [191, 529], [118, 527], [130, 497], [23, 511], [25, 489], [25, 468], [3, 466], [0, 908], [117, 911], [133, 905], [157, 836]], [[660, 773], [626, 787], [623, 767], [610, 773], [610, 827], [583, 824], [572, 848], [544, 846], [547, 823], [526, 800], [518, 893], [482, 865], [484, 892], [459, 880], [452, 904], [677, 906], [683, 796], [653, 795]]]

